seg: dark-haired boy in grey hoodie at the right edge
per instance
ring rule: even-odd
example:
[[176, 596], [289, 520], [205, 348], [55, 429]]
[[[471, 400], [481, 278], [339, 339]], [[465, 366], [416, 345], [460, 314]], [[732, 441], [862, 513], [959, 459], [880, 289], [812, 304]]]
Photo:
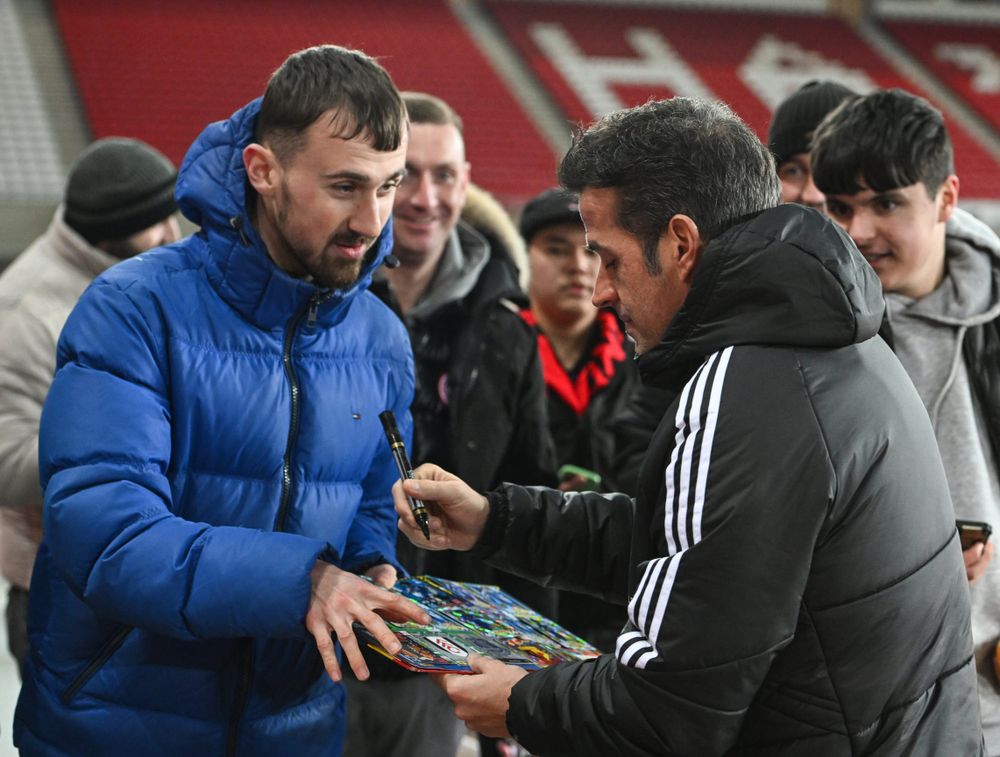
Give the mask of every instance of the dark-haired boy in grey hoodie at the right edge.
[[[827, 213], [878, 274], [887, 338], [934, 426], [959, 518], [1000, 526], [1000, 239], [956, 207], [941, 113], [902, 90], [845, 103], [812, 152]], [[993, 543], [964, 552], [983, 730], [1000, 754], [1000, 566]]]

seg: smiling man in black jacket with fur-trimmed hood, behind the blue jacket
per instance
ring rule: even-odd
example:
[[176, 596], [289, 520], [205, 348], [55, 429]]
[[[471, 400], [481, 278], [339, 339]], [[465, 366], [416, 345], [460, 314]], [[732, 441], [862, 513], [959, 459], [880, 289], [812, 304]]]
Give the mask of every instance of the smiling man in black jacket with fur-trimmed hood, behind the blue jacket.
[[[503, 209], [470, 186], [458, 114], [422, 93], [404, 92], [403, 102], [410, 135], [393, 204], [399, 266], [372, 291], [402, 318], [413, 345], [413, 461], [438, 463], [481, 488], [555, 483], [535, 336], [514, 304], [521, 240]], [[469, 555], [428, 555], [402, 541], [399, 559], [412, 573], [499, 583], [541, 612], [554, 610], [553, 591]], [[348, 683], [345, 754], [454, 754], [464, 727], [450, 703], [426, 677], [394, 668], [373, 659], [372, 685]]]

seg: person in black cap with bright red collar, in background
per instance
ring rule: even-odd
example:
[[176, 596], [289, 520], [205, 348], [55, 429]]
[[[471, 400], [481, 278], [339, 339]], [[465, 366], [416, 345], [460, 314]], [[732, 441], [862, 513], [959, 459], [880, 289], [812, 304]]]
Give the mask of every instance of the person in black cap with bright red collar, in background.
[[[619, 467], [616, 428], [639, 373], [618, 316], [592, 302], [600, 258], [587, 247], [576, 195], [558, 188], [537, 195], [521, 213], [520, 232], [530, 271], [530, 307], [521, 317], [537, 332], [559, 487], [634, 493], [635, 471]], [[559, 622], [604, 651], [614, 649], [621, 613], [595, 597], [559, 595]]]

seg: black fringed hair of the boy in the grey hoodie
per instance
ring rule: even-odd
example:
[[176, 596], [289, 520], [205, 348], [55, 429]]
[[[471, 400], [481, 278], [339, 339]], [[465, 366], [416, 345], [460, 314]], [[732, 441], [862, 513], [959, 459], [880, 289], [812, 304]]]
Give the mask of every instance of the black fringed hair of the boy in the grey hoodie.
[[923, 182], [930, 197], [955, 172], [941, 112], [922, 97], [884, 89], [844, 101], [818, 127], [813, 181], [827, 195], [876, 192]]

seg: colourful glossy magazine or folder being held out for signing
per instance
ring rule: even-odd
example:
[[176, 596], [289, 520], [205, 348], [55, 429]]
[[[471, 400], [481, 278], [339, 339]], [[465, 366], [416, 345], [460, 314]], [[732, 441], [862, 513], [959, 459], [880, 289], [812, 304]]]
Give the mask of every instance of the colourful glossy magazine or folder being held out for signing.
[[431, 616], [430, 624], [387, 621], [403, 645], [395, 656], [361, 624], [355, 623], [354, 629], [369, 647], [408, 670], [471, 673], [470, 652], [528, 670], [600, 654], [497, 586], [411, 576], [399, 581], [393, 591], [424, 608]]

